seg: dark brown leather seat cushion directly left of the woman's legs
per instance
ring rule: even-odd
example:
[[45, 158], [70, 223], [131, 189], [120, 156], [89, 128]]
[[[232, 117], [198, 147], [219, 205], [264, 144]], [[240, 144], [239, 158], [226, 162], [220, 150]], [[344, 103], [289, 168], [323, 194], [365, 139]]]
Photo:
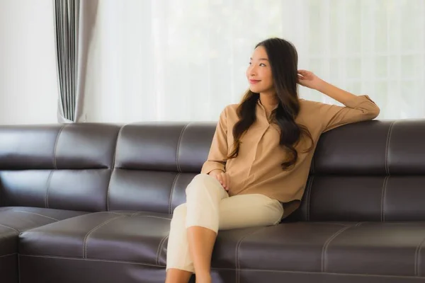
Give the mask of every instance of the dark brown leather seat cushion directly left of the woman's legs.
[[170, 214], [96, 212], [21, 233], [20, 255], [165, 265]]

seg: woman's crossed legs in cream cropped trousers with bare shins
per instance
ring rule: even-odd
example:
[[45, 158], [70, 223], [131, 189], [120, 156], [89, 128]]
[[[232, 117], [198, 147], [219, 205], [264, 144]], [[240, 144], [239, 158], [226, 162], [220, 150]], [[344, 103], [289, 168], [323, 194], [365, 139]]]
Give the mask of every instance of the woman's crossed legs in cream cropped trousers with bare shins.
[[[181, 204], [174, 210], [167, 247], [167, 283], [188, 282], [191, 274], [195, 272], [192, 258], [198, 260], [201, 270], [204, 268], [208, 271], [208, 276], [204, 276], [209, 277], [210, 251], [215, 243], [217, 229], [269, 226], [278, 224], [283, 216], [283, 207], [277, 200], [264, 195], [228, 197], [227, 192], [216, 181], [211, 176], [196, 176], [186, 190], [186, 199], [188, 204], [193, 204], [189, 205], [193, 212], [188, 214], [186, 204]], [[217, 184], [220, 187], [217, 187]], [[196, 194], [192, 194], [193, 191]], [[194, 197], [195, 195], [198, 195], [198, 198]], [[217, 195], [221, 197], [220, 200], [217, 200], [219, 198]], [[210, 205], [216, 202], [219, 202], [217, 213], [215, 205]], [[207, 208], [204, 209], [204, 207]], [[188, 227], [187, 230], [186, 227]], [[205, 230], [197, 231], [198, 228]], [[204, 232], [213, 236], [214, 241], [211, 238], [205, 241], [202, 238]], [[191, 238], [191, 241], [188, 241], [188, 238]], [[197, 281], [200, 282], [199, 280], [203, 279], [202, 272], [196, 273], [199, 273]]]

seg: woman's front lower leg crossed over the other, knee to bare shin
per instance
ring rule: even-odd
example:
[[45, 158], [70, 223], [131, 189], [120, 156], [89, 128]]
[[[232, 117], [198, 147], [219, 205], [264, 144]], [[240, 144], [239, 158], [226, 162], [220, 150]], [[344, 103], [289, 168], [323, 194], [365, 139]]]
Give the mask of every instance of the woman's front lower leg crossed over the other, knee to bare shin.
[[211, 282], [210, 267], [219, 226], [219, 207], [228, 198], [220, 182], [210, 175], [197, 175], [186, 188], [186, 228], [196, 282]]

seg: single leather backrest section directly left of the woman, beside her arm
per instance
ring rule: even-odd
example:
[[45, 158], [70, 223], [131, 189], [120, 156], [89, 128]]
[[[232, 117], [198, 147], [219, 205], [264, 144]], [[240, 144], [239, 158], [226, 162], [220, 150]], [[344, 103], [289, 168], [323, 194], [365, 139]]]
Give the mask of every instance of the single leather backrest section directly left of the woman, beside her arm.
[[145, 123], [120, 131], [109, 210], [172, 213], [208, 156], [212, 123]]

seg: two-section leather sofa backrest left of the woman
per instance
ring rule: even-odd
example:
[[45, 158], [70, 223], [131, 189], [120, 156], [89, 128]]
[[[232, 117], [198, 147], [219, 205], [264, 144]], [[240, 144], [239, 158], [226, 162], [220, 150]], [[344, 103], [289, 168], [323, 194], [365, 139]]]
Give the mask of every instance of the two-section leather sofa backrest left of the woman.
[[172, 213], [215, 123], [0, 127], [0, 206]]

